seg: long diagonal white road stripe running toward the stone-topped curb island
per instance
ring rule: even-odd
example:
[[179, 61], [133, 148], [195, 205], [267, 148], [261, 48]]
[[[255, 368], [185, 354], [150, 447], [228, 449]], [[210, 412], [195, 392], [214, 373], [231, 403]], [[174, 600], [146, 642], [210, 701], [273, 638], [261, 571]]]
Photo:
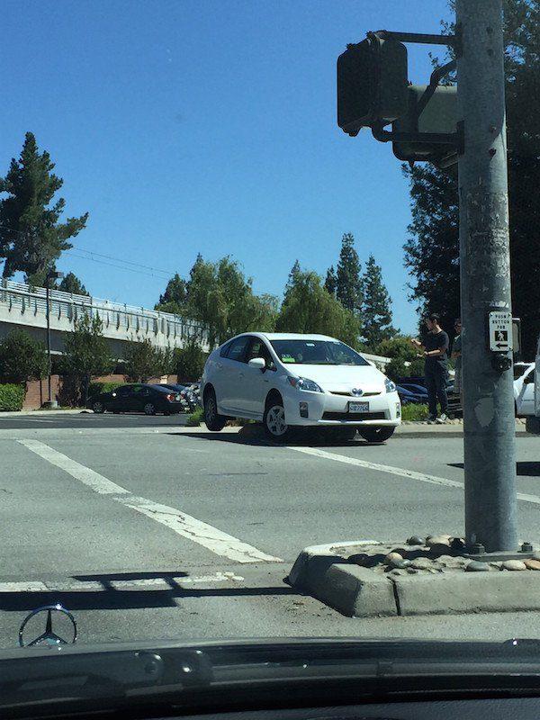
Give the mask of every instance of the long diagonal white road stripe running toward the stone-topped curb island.
[[109, 495], [111, 500], [120, 502], [122, 505], [146, 515], [147, 518], [156, 520], [161, 525], [174, 530], [179, 536], [192, 540], [193, 543], [202, 545], [212, 553], [229, 558], [236, 563], [283, 563], [284, 561], [257, 550], [253, 545], [247, 545], [237, 537], [223, 533], [217, 527], [211, 527], [201, 520], [186, 515], [181, 510], [169, 508], [147, 498], [139, 498], [130, 491], [111, 482], [99, 473], [94, 473], [90, 468], [76, 463], [75, 460], [58, 453], [52, 447], [41, 443], [39, 440], [19, 440], [21, 445], [27, 447], [32, 453], [40, 455], [50, 464], [56, 465], [79, 482], [83, 482], [91, 490], [100, 495]]

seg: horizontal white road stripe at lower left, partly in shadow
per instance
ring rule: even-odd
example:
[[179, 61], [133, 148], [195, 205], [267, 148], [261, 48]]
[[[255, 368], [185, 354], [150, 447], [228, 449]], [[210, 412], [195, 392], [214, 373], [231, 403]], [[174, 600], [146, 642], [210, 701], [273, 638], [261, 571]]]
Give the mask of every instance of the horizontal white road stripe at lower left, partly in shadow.
[[3, 592], [105, 592], [106, 590], [171, 590], [171, 581], [179, 588], [191, 585], [208, 585], [212, 583], [243, 582], [244, 578], [234, 572], [215, 572], [213, 575], [187, 576], [170, 578], [140, 578], [138, 580], [113, 581], [78, 581], [70, 578], [67, 581], [16, 581], [0, 582], [0, 593]]

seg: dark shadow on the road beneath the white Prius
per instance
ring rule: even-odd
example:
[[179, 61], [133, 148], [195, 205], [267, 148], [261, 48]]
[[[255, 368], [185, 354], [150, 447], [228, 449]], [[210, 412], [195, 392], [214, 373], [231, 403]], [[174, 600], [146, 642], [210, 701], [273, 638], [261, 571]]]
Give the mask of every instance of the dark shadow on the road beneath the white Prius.
[[284, 446], [304, 446], [304, 447], [380, 447], [382, 443], [368, 443], [362, 437], [357, 436], [354, 440], [345, 442], [332, 440], [325, 437], [314, 437], [310, 432], [299, 431], [294, 434], [291, 439], [284, 443], [274, 443], [266, 439], [265, 431], [257, 425], [246, 425], [241, 428], [238, 433], [230, 432], [207, 432], [193, 428], [192, 431], [183, 433], [166, 433], [174, 437], [196, 437], [200, 440], [218, 441], [220, 443], [233, 443], [236, 445], [266, 446], [266, 447], [284, 447]]

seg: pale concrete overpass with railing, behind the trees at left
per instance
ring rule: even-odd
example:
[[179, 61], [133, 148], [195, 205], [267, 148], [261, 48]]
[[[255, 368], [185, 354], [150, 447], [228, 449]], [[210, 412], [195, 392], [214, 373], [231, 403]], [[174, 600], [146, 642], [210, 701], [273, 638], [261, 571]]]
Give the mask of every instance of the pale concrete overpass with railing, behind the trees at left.
[[[45, 288], [31, 288], [11, 280], [0, 281], [0, 339], [11, 330], [26, 330], [33, 338], [47, 341]], [[87, 313], [99, 316], [103, 322], [103, 336], [111, 346], [112, 356], [123, 359], [127, 343], [149, 338], [157, 347], [184, 347], [188, 338], [197, 338], [208, 349], [208, 338], [202, 324], [172, 315], [119, 302], [99, 300], [51, 290], [49, 293], [51, 350], [59, 355], [64, 339], [74, 329], [77, 318]]]

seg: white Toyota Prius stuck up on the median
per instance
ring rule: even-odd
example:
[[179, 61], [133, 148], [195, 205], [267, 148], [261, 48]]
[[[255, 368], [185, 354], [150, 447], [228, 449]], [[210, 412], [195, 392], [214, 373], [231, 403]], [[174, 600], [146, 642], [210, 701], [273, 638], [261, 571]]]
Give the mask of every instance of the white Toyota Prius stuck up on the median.
[[251, 332], [216, 348], [204, 366], [201, 397], [209, 430], [227, 419], [262, 420], [284, 441], [291, 428], [356, 431], [383, 442], [401, 423], [396, 386], [365, 357], [325, 335]]

